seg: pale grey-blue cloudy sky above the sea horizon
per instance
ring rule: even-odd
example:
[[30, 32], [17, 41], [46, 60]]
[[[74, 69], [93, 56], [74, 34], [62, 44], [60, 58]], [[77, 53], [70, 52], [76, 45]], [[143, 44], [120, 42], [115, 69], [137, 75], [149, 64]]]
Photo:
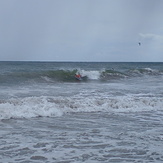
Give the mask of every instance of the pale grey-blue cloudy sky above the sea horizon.
[[163, 0], [0, 0], [0, 61], [163, 62]]

